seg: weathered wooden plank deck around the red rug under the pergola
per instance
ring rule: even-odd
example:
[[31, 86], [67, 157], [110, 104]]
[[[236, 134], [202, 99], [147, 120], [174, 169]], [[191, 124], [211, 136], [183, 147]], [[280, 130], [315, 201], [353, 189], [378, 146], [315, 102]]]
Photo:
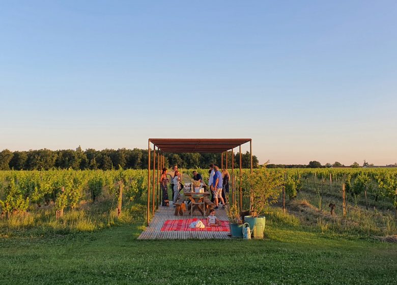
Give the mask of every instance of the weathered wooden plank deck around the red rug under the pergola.
[[[181, 219], [190, 219], [190, 218], [198, 218], [203, 219], [206, 218], [203, 215], [199, 215], [198, 211], [194, 211], [193, 216], [187, 215], [184, 213], [183, 216], [174, 216], [175, 208], [172, 207], [172, 202], [170, 202], [169, 207], [159, 206], [158, 210], [155, 212], [155, 215], [150, 222], [149, 226], [146, 228], [146, 231], [142, 232], [138, 240], [171, 240], [171, 239], [230, 239], [228, 236], [229, 232], [207, 232], [207, 231], [166, 231], [161, 232], [161, 227], [163, 226], [166, 220], [181, 220]], [[226, 215], [225, 209], [215, 209], [216, 216], [220, 220], [228, 220], [228, 216]]]

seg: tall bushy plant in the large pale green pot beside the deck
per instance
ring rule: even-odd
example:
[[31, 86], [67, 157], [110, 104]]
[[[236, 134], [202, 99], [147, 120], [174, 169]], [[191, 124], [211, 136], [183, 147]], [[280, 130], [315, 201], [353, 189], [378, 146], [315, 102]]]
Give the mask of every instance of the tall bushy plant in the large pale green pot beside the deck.
[[265, 230], [265, 216], [262, 214], [267, 206], [277, 202], [281, 184], [281, 174], [268, 170], [245, 176], [243, 185], [249, 191], [245, 191], [244, 195], [249, 198], [249, 212], [252, 215], [245, 216], [244, 222], [249, 223], [251, 230], [255, 224], [261, 224]]

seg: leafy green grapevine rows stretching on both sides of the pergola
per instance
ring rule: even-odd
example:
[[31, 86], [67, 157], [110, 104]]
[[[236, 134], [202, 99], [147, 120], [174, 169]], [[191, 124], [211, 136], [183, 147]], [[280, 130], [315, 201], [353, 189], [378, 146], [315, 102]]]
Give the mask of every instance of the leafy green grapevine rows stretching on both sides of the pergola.
[[[182, 172], [184, 179], [190, 179], [191, 170]], [[206, 169], [198, 169], [198, 172], [208, 179]], [[248, 191], [244, 187], [244, 173], [248, 172], [249, 169], [243, 169], [243, 192]], [[311, 214], [317, 218], [309, 225], [326, 223], [332, 229], [332, 224], [338, 224], [335, 229], [340, 233], [349, 230], [347, 221], [355, 217], [356, 227], [362, 234], [397, 234], [393, 221], [397, 206], [396, 169], [254, 169], [254, 172], [258, 175], [269, 172], [283, 181], [290, 213], [297, 211], [301, 214], [306, 210], [302, 210], [304, 204], [315, 208], [315, 213]], [[153, 177], [157, 183], [157, 175]], [[238, 196], [238, 170], [234, 171], [234, 181], [235, 190], [230, 195]], [[45, 225], [54, 231], [92, 231], [127, 216], [144, 219], [147, 183], [147, 170], [136, 169], [3, 171], [0, 172], [0, 228], [9, 232], [13, 226], [23, 229]], [[343, 185], [347, 214], [345, 219], [335, 220], [326, 213], [329, 212], [328, 205], [335, 204], [337, 216], [342, 216], [345, 211], [342, 209]], [[279, 190], [281, 195], [281, 188]], [[156, 205], [159, 199], [156, 189]], [[281, 198], [276, 206], [281, 206], [280, 201]], [[243, 208], [247, 203], [248, 198], [244, 198]], [[269, 216], [272, 213], [269, 212]], [[368, 229], [364, 220], [374, 226]], [[305, 220], [301, 223], [305, 224]]]

